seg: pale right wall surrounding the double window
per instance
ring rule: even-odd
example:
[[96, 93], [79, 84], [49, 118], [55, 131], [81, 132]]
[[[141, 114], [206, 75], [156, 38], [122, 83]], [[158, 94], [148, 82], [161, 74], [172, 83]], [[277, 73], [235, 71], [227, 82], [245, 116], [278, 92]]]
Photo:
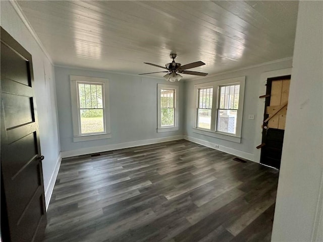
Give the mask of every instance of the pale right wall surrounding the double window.
[[[274, 70], [286, 69], [292, 67], [291, 59], [285, 61], [278, 61], [272, 64], [266, 64], [259, 67], [249, 68], [236, 72], [220, 74], [217, 76], [206, 77], [195, 81], [185, 82], [185, 130], [184, 135], [193, 142], [198, 142], [203, 145], [214, 148], [214, 144], [219, 145], [219, 150], [231, 153], [249, 160], [259, 162], [257, 160], [255, 148], [259, 144], [255, 143], [256, 132], [261, 135], [261, 124], [257, 121], [257, 110], [259, 103], [259, 90], [261, 81], [261, 74], [264, 72], [270, 72]], [[195, 126], [195, 100], [194, 100], [194, 85], [198, 83], [206, 83], [218, 80], [224, 80], [229, 78], [246, 76], [245, 94], [244, 94], [244, 107], [243, 107], [243, 119], [242, 119], [242, 134], [241, 143], [235, 143], [223, 139], [213, 138], [201, 134], [194, 133], [193, 127]], [[265, 94], [265, 93], [262, 93]], [[264, 106], [263, 106], [264, 108]], [[254, 120], [248, 119], [248, 114], [254, 114]], [[263, 109], [262, 113], [263, 115]]]

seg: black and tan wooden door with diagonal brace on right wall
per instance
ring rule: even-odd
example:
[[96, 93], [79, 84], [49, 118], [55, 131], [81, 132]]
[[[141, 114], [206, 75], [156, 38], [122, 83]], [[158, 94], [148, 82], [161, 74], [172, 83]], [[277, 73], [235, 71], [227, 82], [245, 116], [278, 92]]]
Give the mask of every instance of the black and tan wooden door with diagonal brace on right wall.
[[266, 84], [260, 163], [280, 168], [291, 76], [270, 78]]

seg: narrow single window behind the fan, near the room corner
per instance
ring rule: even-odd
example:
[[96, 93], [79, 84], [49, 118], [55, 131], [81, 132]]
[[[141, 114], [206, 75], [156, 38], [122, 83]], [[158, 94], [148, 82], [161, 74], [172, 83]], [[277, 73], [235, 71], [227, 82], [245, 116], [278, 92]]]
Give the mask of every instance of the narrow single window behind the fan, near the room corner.
[[178, 86], [157, 84], [157, 132], [178, 130]]

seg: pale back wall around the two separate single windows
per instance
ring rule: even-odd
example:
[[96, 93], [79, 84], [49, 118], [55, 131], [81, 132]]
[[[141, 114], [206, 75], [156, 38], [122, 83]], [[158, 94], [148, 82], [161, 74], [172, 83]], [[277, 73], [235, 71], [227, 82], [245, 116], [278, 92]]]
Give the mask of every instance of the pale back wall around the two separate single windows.
[[[73, 142], [70, 75], [109, 79], [111, 139]], [[167, 141], [183, 134], [181, 111], [184, 96], [183, 83], [179, 83], [180, 129], [174, 132], [157, 133], [157, 83], [170, 84], [169, 82], [144, 76], [62, 67], [55, 67], [55, 76], [63, 157]]]

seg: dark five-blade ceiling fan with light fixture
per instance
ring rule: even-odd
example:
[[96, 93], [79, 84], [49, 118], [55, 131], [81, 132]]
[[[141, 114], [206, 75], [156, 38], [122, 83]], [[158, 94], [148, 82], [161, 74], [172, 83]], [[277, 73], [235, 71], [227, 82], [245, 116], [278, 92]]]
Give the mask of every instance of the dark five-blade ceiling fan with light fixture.
[[[203, 63], [201, 61], [193, 62], [193, 63], [186, 64], [186, 65], [182, 66], [180, 63], [175, 62], [177, 54], [171, 53], [170, 57], [171, 57], [171, 59], [173, 59], [173, 61], [171, 63], [166, 64], [165, 67], [158, 66], [155, 64], [151, 64], [151, 63], [146, 63], [146, 62], [144, 62], [144, 64], [166, 69], [167, 71], [164, 71], [164, 72], [165, 73], [167, 72], [167, 74], [164, 76], [164, 78], [170, 82], [180, 81], [183, 78], [180, 74], [188, 74], [188, 75], [203, 76], [203, 77], [205, 77], [208, 74], [208, 73], [203, 73], [203, 72], [186, 71], [187, 69], [191, 69], [191, 68], [200, 67], [200, 66], [205, 65], [205, 63]], [[146, 74], [152, 74], [152, 73], [163, 73], [163, 72], [150, 72], [150, 73], [143, 73], [143, 74], [139, 74], [139, 75], [146, 75]]]

